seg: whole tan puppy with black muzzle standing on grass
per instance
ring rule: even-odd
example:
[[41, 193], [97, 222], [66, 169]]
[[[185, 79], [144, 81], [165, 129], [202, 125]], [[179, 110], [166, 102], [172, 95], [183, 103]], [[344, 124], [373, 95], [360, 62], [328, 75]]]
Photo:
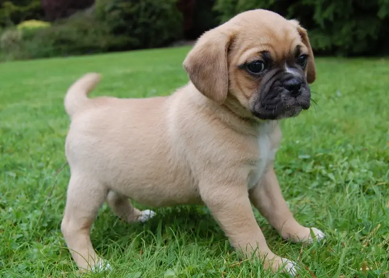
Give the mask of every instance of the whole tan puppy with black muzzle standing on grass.
[[250, 201], [283, 238], [312, 241], [273, 169], [277, 120], [310, 105], [316, 72], [306, 31], [273, 12], [248, 11], [204, 33], [183, 65], [191, 82], [169, 97], [89, 99], [99, 81], [93, 73], [69, 89], [71, 179], [61, 229], [73, 259], [81, 269], [107, 266], [90, 227], [104, 201], [128, 222], [154, 214], [130, 198], [152, 207], [205, 204], [237, 250], [295, 275], [296, 265], [267, 246]]

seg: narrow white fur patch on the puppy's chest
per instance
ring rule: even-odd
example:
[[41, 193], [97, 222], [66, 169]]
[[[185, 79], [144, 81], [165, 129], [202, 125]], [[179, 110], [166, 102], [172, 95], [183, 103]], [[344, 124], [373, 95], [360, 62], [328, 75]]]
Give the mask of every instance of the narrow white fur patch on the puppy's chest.
[[261, 180], [266, 166], [273, 161], [277, 149], [271, 149], [270, 132], [272, 122], [264, 123], [259, 128], [258, 151], [259, 157], [255, 164], [255, 170], [248, 180], [248, 189], [253, 188]]

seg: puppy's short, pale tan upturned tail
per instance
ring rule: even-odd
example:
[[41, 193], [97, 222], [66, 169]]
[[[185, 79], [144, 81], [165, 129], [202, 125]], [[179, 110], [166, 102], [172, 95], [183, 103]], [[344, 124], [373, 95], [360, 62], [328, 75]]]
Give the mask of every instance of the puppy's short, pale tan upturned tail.
[[87, 73], [71, 85], [64, 100], [66, 113], [68, 113], [70, 117], [83, 110], [84, 106], [89, 101], [88, 94], [99, 81], [100, 74]]

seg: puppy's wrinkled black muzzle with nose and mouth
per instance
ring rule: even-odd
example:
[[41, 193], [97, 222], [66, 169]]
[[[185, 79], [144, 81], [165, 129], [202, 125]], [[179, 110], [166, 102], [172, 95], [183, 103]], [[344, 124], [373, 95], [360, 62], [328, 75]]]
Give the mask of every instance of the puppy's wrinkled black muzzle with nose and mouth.
[[309, 109], [311, 91], [303, 78], [281, 73], [264, 78], [261, 83], [259, 94], [251, 102], [251, 112], [259, 119], [295, 117]]

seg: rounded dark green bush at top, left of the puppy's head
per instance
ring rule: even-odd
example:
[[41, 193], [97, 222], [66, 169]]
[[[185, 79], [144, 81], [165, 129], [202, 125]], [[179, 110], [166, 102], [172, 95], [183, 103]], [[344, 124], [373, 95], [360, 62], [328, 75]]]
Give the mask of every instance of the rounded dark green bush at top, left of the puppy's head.
[[177, 0], [96, 0], [94, 15], [124, 38], [115, 50], [162, 47], [182, 35]]

